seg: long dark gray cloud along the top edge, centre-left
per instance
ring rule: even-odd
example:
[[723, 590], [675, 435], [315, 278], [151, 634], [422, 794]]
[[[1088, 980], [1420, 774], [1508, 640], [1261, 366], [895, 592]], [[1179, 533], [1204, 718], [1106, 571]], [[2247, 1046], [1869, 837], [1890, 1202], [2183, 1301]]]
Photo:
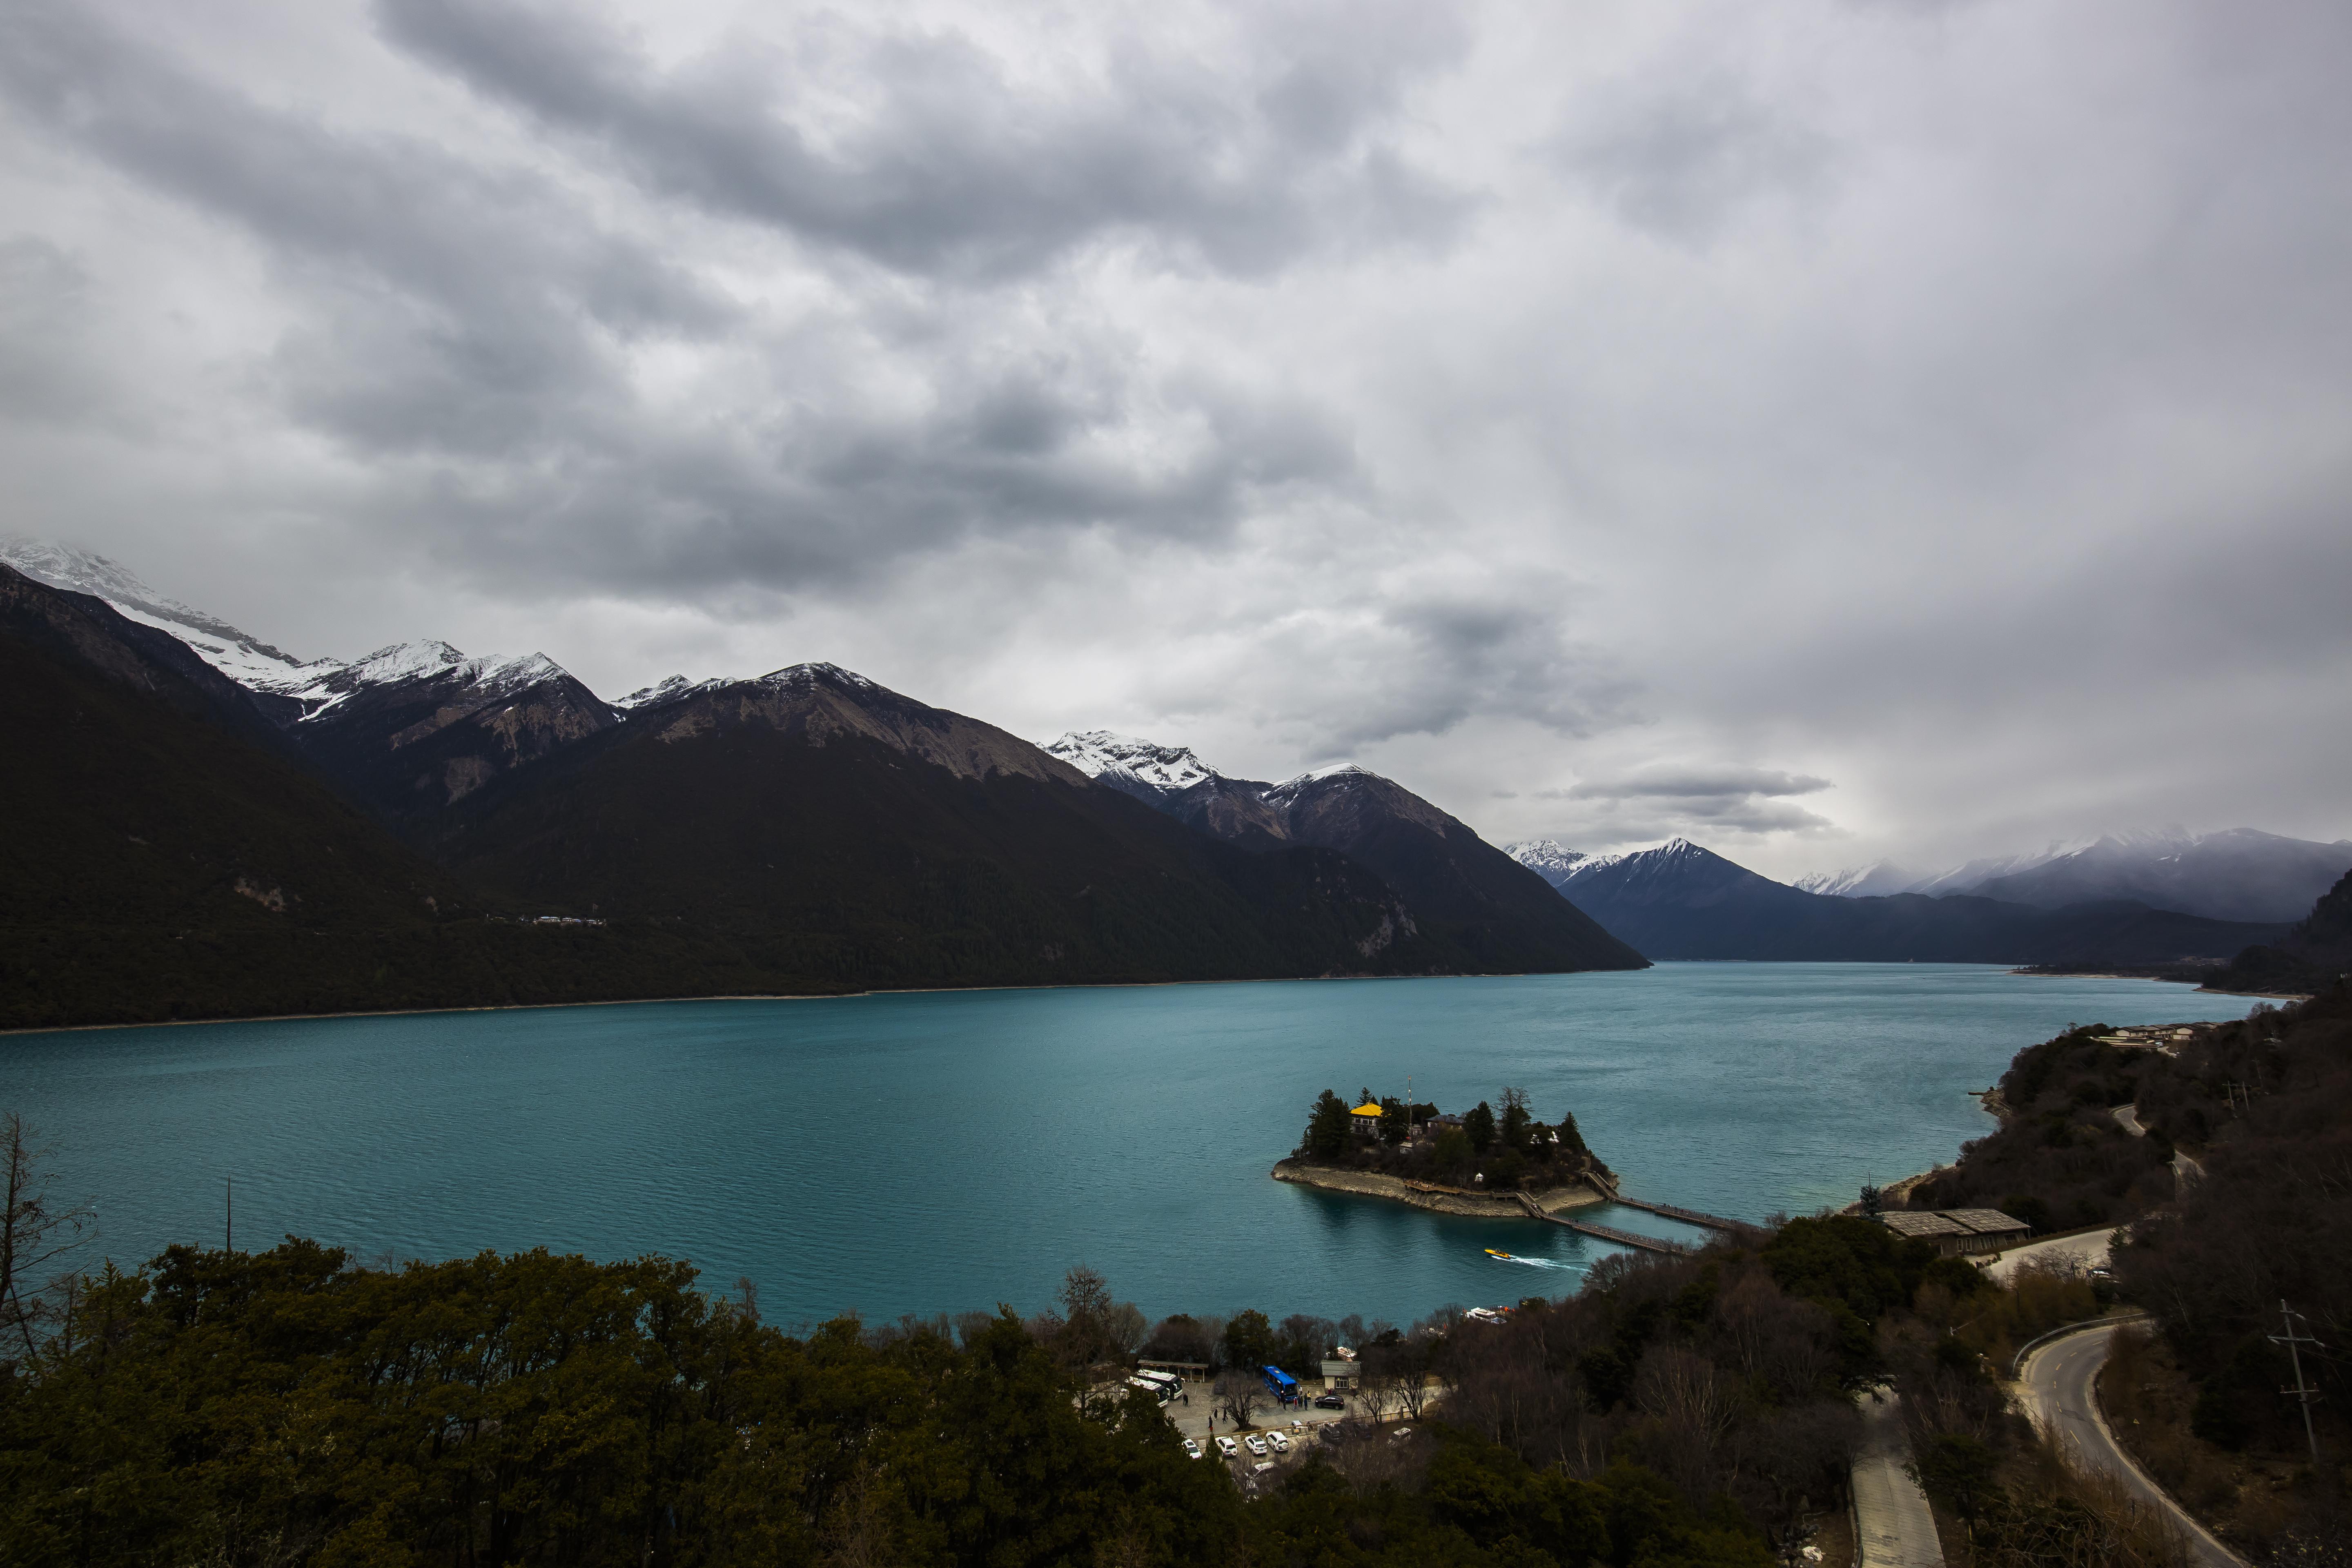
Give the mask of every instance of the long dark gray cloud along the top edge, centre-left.
[[790, 49], [739, 40], [661, 71], [583, 7], [381, 0], [379, 16], [661, 190], [901, 270], [1023, 273], [1127, 233], [1256, 273], [1341, 240], [1428, 244], [1465, 207], [1383, 136], [1404, 87], [1463, 49], [1430, 7], [1268, 7], [1272, 47], [1240, 82], [1117, 47], [1098, 82], [1047, 99], [969, 38], [891, 33], [856, 47], [880, 92], [858, 115], [814, 110], [821, 63]]

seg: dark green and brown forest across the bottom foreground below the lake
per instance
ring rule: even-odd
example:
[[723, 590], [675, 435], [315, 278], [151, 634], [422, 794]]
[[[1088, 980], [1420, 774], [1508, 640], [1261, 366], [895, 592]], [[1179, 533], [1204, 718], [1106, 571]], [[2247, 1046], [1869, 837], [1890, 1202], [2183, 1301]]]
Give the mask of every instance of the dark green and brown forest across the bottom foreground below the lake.
[[[1985, 1540], [2112, 1533], [2034, 1479], [1983, 1361], [2086, 1305], [1987, 1291], [1865, 1220], [1795, 1220], [1609, 1262], [1498, 1326], [1350, 1324], [1359, 1415], [1261, 1476], [1188, 1458], [1127, 1389], [1141, 1319], [1084, 1272], [1028, 1321], [788, 1335], [661, 1258], [174, 1248], [0, 1321], [0, 1540], [26, 1568], [1771, 1568], [1842, 1528], [1851, 1389], [1889, 1375]], [[1240, 1425], [1265, 1410], [1256, 1361], [1312, 1371], [1338, 1331], [1207, 1328], [1169, 1319], [1155, 1347], [1190, 1335], [1232, 1366]]]

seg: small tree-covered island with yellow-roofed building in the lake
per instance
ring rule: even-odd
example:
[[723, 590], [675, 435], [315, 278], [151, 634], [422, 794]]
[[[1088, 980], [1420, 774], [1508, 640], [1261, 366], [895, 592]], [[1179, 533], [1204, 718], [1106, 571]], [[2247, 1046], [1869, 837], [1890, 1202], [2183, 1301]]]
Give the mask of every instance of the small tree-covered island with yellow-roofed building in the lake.
[[1383, 1197], [1461, 1215], [1559, 1213], [1616, 1197], [1616, 1175], [1585, 1147], [1576, 1117], [1536, 1121], [1526, 1093], [1503, 1110], [1479, 1100], [1463, 1114], [1364, 1091], [1348, 1105], [1329, 1088], [1308, 1131], [1272, 1171], [1277, 1182]]

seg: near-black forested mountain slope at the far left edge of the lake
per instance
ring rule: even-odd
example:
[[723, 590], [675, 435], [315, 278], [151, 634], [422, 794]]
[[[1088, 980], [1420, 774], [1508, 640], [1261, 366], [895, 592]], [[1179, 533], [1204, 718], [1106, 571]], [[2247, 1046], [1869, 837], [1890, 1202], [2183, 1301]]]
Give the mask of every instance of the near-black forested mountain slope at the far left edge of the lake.
[[0, 731], [0, 1027], [409, 997], [383, 947], [463, 903], [176, 639], [5, 567]]

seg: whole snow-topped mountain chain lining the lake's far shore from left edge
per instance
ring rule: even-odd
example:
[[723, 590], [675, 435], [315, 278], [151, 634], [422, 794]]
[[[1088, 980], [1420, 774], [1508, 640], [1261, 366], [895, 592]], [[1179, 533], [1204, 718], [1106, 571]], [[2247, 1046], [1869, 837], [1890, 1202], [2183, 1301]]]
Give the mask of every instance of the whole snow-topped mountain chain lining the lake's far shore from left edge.
[[1096, 780], [821, 663], [607, 703], [536, 654], [296, 661], [0, 559], [0, 1027], [1644, 966], [1374, 773]]

